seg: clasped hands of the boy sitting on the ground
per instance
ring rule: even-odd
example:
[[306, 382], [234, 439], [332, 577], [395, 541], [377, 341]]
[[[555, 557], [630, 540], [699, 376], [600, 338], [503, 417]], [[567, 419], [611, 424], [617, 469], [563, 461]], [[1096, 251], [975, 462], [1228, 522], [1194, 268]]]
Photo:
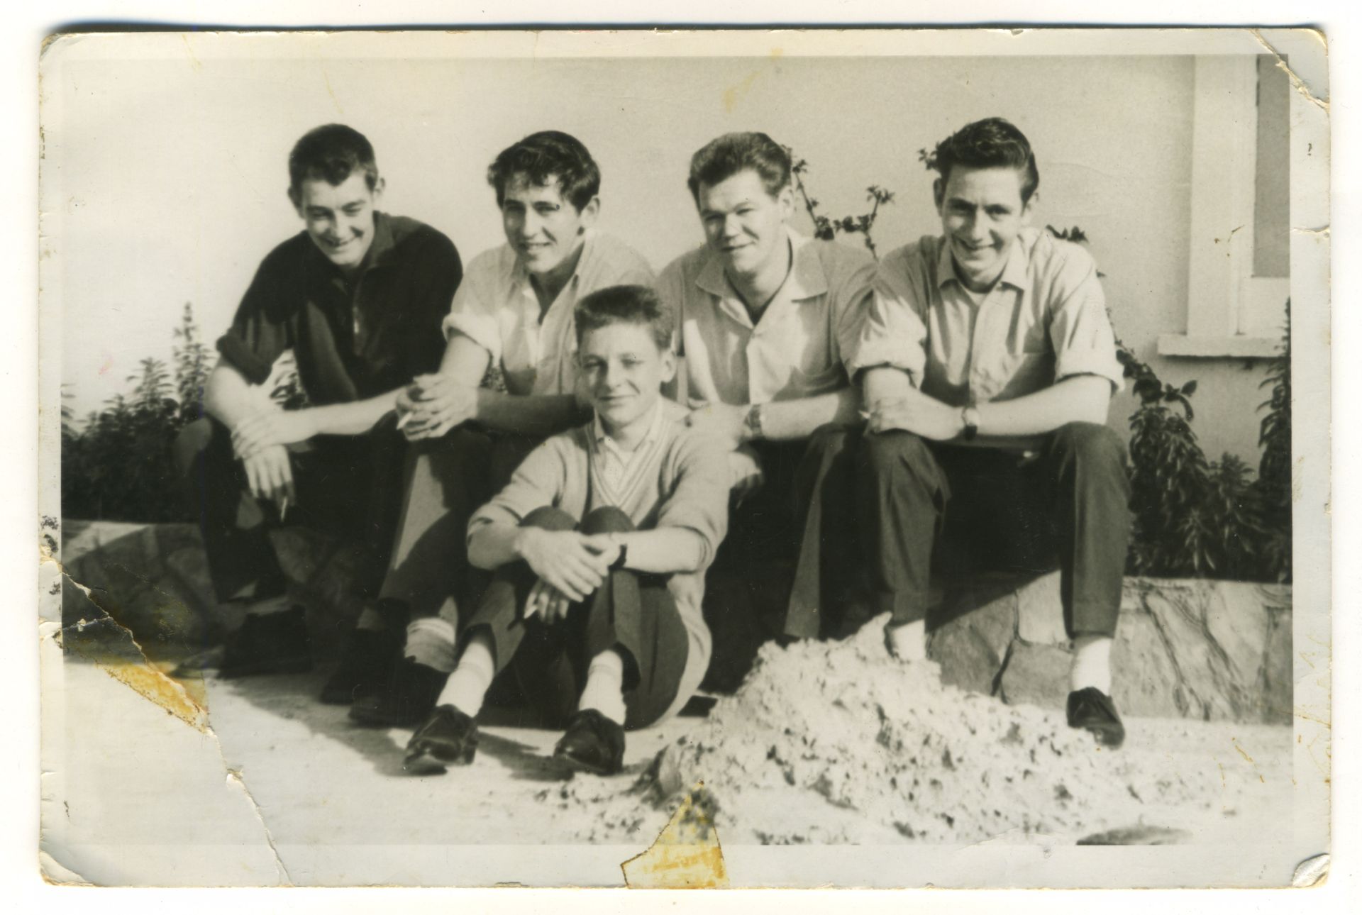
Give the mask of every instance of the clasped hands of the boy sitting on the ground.
[[524, 605], [526, 618], [565, 618], [573, 603], [586, 600], [605, 583], [621, 549], [613, 534], [520, 528], [516, 551], [538, 576]]

